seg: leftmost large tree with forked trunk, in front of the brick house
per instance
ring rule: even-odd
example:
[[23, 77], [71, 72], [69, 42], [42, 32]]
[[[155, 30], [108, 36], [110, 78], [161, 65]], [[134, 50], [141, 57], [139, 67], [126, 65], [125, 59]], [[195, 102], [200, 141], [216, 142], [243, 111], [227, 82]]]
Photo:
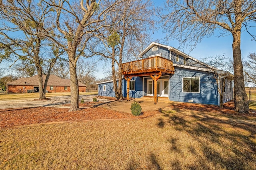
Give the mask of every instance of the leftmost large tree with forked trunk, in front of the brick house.
[[[14, 57], [14, 63], [25, 61], [26, 64], [34, 64], [39, 79], [39, 99], [46, 99], [50, 71], [63, 53], [43, 36], [52, 33], [52, 25], [49, 24], [51, 9], [42, 2], [20, 0], [4, 0], [0, 9], [0, 17], [5, 21], [0, 28], [0, 44], [1, 49], [4, 49], [1, 56]], [[45, 62], [49, 69], [43, 82]]]

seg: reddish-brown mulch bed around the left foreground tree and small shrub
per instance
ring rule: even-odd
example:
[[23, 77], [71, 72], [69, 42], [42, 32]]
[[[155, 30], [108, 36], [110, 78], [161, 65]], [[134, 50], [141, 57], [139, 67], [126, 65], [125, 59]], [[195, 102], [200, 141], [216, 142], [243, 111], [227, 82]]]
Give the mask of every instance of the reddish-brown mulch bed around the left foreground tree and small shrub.
[[159, 113], [158, 111], [145, 111], [142, 115], [134, 116], [131, 113], [105, 109], [102, 107], [92, 107], [72, 112], [69, 112], [68, 110], [69, 109], [67, 108], [56, 107], [0, 109], [0, 128], [58, 121], [140, 119]]

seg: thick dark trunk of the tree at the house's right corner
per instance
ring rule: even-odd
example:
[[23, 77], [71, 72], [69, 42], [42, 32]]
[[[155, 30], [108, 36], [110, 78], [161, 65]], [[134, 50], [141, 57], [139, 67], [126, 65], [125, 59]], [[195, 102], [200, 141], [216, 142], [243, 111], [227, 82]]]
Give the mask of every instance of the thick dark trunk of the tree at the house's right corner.
[[244, 73], [240, 49], [241, 29], [236, 29], [233, 35], [233, 59], [234, 59], [234, 96], [235, 110], [239, 113], [249, 113], [248, 97], [244, 88]]

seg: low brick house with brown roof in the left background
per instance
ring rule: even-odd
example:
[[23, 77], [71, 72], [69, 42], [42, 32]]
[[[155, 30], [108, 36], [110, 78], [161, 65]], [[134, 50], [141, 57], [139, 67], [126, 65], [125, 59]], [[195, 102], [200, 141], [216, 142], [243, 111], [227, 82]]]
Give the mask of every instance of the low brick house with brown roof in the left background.
[[[46, 76], [43, 76], [43, 82]], [[79, 92], [86, 92], [86, 85], [78, 82]], [[46, 90], [49, 93], [70, 92], [70, 79], [62, 79], [55, 75], [50, 75]], [[20, 78], [7, 84], [7, 93], [28, 93], [39, 92], [38, 75]]]

